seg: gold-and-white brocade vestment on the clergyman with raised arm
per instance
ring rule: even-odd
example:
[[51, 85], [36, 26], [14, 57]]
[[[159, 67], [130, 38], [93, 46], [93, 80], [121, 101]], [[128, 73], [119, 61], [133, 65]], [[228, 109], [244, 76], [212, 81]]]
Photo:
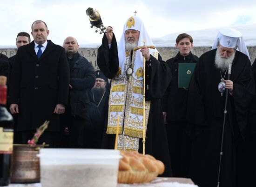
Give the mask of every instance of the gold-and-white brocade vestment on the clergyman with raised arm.
[[[117, 148], [121, 150], [137, 150], [139, 138], [143, 138], [143, 66], [135, 66], [137, 51], [126, 52], [125, 63], [121, 64], [118, 74], [112, 79], [107, 134], [116, 134], [119, 125]], [[154, 55], [155, 54], [155, 55]], [[158, 58], [158, 53], [152, 53]], [[143, 64], [143, 63], [142, 63]], [[126, 74], [128, 67], [136, 68], [132, 75]], [[120, 74], [121, 73], [121, 74]], [[141, 76], [142, 75], [142, 76]], [[145, 126], [147, 129], [150, 101], [146, 101]], [[117, 124], [119, 117], [119, 123]]]

